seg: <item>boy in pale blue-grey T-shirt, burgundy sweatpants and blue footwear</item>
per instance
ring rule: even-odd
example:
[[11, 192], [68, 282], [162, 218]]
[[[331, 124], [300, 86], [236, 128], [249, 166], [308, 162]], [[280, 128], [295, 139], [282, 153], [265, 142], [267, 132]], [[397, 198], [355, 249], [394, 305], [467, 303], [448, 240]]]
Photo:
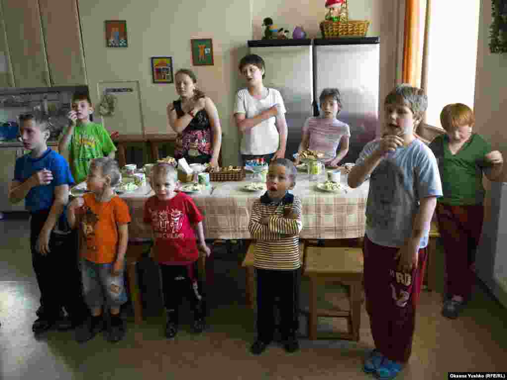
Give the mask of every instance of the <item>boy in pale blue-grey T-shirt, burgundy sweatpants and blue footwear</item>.
[[348, 175], [370, 177], [364, 276], [375, 350], [365, 372], [393, 378], [409, 360], [431, 216], [442, 196], [437, 160], [414, 136], [427, 107], [423, 90], [400, 85], [385, 98], [382, 138], [365, 145]]

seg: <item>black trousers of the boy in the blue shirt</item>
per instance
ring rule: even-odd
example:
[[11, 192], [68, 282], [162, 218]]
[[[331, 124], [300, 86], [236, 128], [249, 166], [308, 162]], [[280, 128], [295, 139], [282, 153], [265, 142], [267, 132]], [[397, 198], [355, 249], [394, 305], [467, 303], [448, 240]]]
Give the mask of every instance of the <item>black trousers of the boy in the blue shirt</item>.
[[35, 278], [41, 291], [41, 305], [46, 318], [57, 318], [64, 307], [71, 321], [82, 322], [89, 314], [83, 299], [81, 272], [78, 267], [78, 234], [74, 230], [68, 235], [51, 233], [50, 252], [43, 256], [35, 244], [49, 210], [31, 214], [30, 248]]

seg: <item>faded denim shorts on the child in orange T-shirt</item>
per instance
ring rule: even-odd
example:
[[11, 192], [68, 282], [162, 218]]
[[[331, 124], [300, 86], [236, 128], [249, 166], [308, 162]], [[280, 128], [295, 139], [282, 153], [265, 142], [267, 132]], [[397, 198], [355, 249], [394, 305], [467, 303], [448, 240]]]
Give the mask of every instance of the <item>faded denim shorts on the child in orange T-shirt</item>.
[[112, 268], [113, 263], [97, 264], [86, 259], [81, 260], [83, 293], [90, 309], [104, 305], [119, 308], [127, 302], [123, 273], [113, 276]]

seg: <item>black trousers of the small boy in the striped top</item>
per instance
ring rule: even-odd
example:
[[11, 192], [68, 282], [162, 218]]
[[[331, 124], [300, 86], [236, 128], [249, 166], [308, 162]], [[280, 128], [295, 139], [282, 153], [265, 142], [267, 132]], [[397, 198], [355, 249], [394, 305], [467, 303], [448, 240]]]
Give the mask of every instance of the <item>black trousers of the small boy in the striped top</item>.
[[294, 336], [299, 328], [300, 270], [277, 271], [256, 269], [257, 337], [269, 343], [275, 330], [275, 300], [280, 310], [282, 339]]

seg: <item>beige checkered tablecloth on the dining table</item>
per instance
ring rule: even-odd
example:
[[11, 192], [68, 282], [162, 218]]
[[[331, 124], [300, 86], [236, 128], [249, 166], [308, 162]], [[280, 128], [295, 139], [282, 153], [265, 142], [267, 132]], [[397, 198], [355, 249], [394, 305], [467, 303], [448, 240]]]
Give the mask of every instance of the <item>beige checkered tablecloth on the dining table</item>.
[[[264, 192], [246, 192], [241, 182], [212, 182], [210, 188], [190, 194], [204, 215], [206, 239], [250, 239], [248, 219], [253, 202]], [[358, 238], [365, 234], [365, 209], [369, 181], [346, 192], [325, 193], [308, 176], [298, 175], [292, 193], [303, 202], [303, 239]], [[151, 239], [150, 227], [142, 222], [144, 202], [153, 196], [150, 185], [122, 195], [130, 209], [130, 240]]]

